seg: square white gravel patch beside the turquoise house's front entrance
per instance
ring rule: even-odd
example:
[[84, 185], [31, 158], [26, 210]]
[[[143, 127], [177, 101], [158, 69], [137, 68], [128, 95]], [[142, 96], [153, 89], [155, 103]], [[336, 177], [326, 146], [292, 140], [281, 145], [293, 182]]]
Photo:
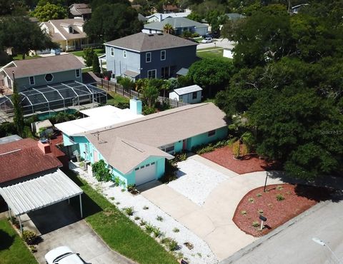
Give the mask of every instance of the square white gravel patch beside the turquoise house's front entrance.
[[168, 186], [200, 206], [204, 205], [209, 193], [219, 183], [229, 178], [192, 158], [177, 163], [177, 166], [179, 167], [178, 179], [168, 183]]

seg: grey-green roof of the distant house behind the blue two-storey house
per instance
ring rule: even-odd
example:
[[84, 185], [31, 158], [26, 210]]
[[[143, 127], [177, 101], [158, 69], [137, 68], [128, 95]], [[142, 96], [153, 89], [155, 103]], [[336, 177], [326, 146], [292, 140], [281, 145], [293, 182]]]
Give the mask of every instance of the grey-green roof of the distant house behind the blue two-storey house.
[[207, 28], [207, 25], [201, 24], [197, 21], [193, 21], [191, 19], [187, 19], [185, 17], [169, 17], [167, 19], [164, 19], [163, 21], [159, 22], [152, 22], [149, 24], [144, 25], [144, 29], [156, 29], [156, 30], [163, 30], [164, 26], [166, 24], [171, 24], [174, 29], [177, 28], [185, 28], [190, 26], [196, 26], [199, 28]]

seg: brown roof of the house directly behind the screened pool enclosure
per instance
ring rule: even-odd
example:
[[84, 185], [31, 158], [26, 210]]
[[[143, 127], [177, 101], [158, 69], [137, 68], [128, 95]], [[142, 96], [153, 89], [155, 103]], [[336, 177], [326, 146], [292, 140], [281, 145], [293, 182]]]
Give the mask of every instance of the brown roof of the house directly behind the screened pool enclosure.
[[15, 77], [22, 78], [46, 73], [69, 71], [84, 66], [73, 54], [14, 61], [14, 64], [16, 67], [4, 68], [4, 71], [10, 78], [12, 78], [12, 71], [14, 71]]

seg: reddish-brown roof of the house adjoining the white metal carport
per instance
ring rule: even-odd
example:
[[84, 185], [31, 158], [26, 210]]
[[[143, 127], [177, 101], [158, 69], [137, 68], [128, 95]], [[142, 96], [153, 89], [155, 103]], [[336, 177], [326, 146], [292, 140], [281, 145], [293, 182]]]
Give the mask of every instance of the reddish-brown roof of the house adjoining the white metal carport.
[[51, 154], [44, 154], [31, 138], [0, 145], [0, 183], [61, 167]]

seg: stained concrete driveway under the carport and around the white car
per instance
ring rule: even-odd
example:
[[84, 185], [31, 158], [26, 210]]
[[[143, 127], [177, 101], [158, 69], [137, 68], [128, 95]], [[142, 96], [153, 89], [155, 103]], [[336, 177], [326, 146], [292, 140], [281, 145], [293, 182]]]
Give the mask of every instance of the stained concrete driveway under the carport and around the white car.
[[29, 217], [43, 239], [34, 253], [39, 263], [46, 263], [44, 255], [60, 245], [67, 245], [79, 253], [85, 263], [134, 263], [111, 250], [84, 220], [79, 220], [66, 202], [36, 210], [29, 213]]

